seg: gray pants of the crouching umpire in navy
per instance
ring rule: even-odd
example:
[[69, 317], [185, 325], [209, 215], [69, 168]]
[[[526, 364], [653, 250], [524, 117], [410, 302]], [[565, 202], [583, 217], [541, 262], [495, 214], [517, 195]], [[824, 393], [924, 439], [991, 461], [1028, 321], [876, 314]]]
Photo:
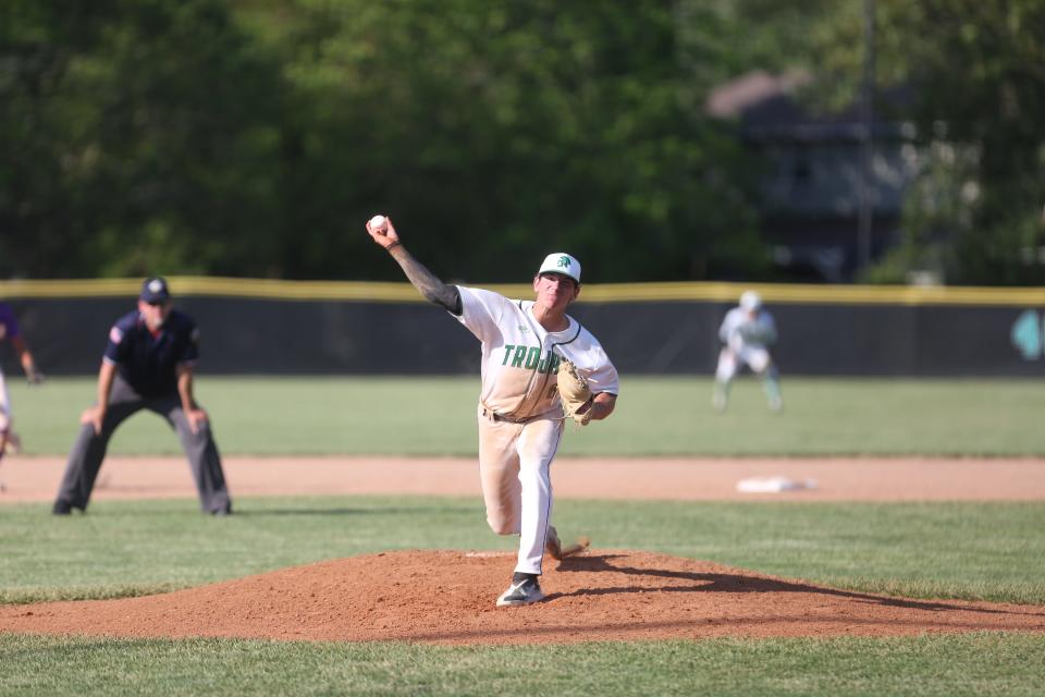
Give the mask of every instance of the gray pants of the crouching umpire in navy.
[[182, 450], [185, 451], [193, 470], [200, 508], [208, 513], [230, 513], [232, 502], [229, 490], [225, 488], [221, 456], [218, 454], [218, 445], [214, 444], [210, 424], [200, 424], [199, 429], [194, 433], [176, 392], [163, 396], [142, 396], [119, 375], [112, 383], [109, 408], [106, 409], [106, 417], [101, 424], [101, 433], [95, 433], [95, 427], [86, 424], [76, 438], [65, 465], [65, 475], [58, 490], [58, 500], [81, 510], [87, 509], [90, 492], [95, 488], [95, 479], [101, 468], [101, 461], [106, 457], [109, 439], [120, 424], [142, 409], [159, 414], [177, 432]]

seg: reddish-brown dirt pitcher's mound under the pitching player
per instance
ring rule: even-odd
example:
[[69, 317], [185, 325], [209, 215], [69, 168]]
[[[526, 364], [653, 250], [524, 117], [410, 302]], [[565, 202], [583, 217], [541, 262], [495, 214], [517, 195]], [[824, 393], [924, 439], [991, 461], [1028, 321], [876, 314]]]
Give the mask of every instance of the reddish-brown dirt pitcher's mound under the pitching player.
[[544, 602], [496, 608], [515, 555], [406, 551], [160, 596], [0, 607], [0, 632], [529, 644], [1045, 631], [1045, 608], [888, 598], [636, 551], [545, 561]]

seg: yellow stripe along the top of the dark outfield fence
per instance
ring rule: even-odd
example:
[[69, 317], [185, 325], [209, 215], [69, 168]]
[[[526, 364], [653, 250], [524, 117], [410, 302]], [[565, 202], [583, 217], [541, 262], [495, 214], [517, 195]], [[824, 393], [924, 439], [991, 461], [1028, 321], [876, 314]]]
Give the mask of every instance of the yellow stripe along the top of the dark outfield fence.
[[[417, 291], [405, 282], [370, 281], [280, 281], [216, 277], [169, 277], [175, 296], [247, 297], [275, 301], [359, 301], [421, 303]], [[0, 298], [135, 297], [140, 279], [77, 279], [0, 281]], [[479, 284], [507, 295], [529, 298], [528, 283]], [[907, 286], [907, 285], [813, 285], [784, 283], [604, 283], [585, 285], [580, 301], [589, 303], [635, 303], [663, 301], [733, 303], [745, 290], [762, 294], [766, 303], [811, 305], [1000, 305], [1045, 306], [1045, 289]]]

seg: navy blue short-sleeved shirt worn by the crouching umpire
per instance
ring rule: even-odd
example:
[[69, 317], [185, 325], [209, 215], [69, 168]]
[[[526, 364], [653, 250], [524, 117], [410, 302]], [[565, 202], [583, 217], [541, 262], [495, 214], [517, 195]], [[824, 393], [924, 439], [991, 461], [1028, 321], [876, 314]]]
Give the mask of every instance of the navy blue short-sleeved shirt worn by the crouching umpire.
[[172, 309], [156, 334], [138, 310], [127, 313], [109, 330], [104, 360], [142, 396], [177, 391], [177, 366], [199, 360], [199, 330], [188, 315]]

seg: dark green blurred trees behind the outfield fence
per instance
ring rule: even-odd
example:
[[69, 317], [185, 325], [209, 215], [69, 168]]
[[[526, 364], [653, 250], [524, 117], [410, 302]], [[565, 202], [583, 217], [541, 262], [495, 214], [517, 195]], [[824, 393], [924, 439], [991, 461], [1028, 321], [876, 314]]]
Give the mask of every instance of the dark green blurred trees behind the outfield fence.
[[[551, 247], [593, 281], [771, 278], [765, 163], [703, 103], [755, 68], [853, 98], [861, 7], [9, 0], [0, 277], [398, 278], [362, 230], [385, 212], [447, 279], [525, 279]], [[896, 115], [936, 159], [869, 278], [1035, 282], [1043, 4], [875, 13], [882, 85], [918, 86]]]

